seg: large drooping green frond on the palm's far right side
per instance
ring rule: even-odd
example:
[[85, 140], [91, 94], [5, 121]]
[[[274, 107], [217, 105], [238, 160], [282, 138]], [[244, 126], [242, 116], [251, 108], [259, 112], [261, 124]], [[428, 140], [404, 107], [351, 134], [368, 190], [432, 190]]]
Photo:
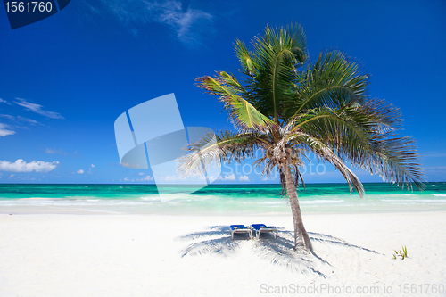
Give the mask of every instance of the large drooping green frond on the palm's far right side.
[[372, 100], [337, 111], [314, 109], [295, 120], [294, 128], [321, 139], [342, 161], [401, 186], [414, 182], [421, 189], [425, 177], [415, 142], [396, 133], [399, 115], [391, 104]]

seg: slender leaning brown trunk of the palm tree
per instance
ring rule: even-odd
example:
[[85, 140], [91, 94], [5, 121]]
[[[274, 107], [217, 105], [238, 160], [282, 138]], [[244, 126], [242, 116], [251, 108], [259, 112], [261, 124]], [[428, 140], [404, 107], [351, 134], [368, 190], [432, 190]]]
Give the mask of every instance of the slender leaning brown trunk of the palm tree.
[[[296, 185], [294, 184], [293, 174], [291, 173], [288, 161], [283, 167], [285, 175], [285, 185], [288, 197], [290, 199], [291, 211], [293, 213], [293, 224], [294, 224], [294, 248], [298, 248], [302, 245], [307, 251], [312, 251], [310, 237], [307, 234], [307, 230], [303, 227], [303, 221], [301, 216], [301, 207], [299, 206], [299, 201], [297, 200]], [[298, 241], [299, 239], [299, 241]]]

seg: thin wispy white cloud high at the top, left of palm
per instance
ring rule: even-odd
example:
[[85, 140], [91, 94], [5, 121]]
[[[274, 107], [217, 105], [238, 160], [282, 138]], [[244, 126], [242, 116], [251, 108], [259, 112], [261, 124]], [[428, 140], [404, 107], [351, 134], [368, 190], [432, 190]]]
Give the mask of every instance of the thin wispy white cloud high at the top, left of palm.
[[[127, 26], [133, 35], [138, 35], [136, 25], [159, 22], [174, 30], [178, 39], [185, 43], [196, 43], [201, 31], [209, 30], [213, 21], [211, 13], [183, 7], [181, 1], [122, 1], [103, 0], [102, 3], [118, 20]], [[91, 9], [102, 12], [102, 9]]]

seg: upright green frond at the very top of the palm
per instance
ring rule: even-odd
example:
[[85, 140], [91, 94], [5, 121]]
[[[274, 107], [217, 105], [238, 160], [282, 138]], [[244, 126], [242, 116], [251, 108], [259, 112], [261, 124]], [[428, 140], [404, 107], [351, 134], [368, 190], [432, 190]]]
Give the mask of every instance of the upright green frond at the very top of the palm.
[[286, 29], [265, 29], [265, 34], [255, 37], [254, 50], [249, 52], [241, 41], [235, 52], [248, 76], [248, 100], [255, 108], [275, 122], [284, 112], [285, 102], [293, 97], [290, 84], [296, 80], [295, 68], [307, 59], [305, 34], [301, 26]]

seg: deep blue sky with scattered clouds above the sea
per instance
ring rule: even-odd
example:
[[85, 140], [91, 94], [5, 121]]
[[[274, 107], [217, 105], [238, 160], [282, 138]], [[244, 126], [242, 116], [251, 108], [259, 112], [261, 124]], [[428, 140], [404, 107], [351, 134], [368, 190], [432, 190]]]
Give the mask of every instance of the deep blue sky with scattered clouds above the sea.
[[[442, 0], [72, 0], [12, 30], [2, 7], [0, 183], [153, 183], [151, 169], [120, 166], [114, 120], [174, 93], [186, 127], [232, 128], [194, 78], [236, 73], [235, 38], [248, 43], [267, 24], [291, 22], [303, 25], [311, 57], [336, 48], [363, 64], [370, 95], [401, 108], [402, 134], [417, 139], [427, 179], [445, 181], [444, 12]], [[316, 165], [307, 182], [343, 182]], [[381, 180], [355, 172], [363, 182]], [[223, 167], [223, 179], [277, 182], [241, 166]]]

